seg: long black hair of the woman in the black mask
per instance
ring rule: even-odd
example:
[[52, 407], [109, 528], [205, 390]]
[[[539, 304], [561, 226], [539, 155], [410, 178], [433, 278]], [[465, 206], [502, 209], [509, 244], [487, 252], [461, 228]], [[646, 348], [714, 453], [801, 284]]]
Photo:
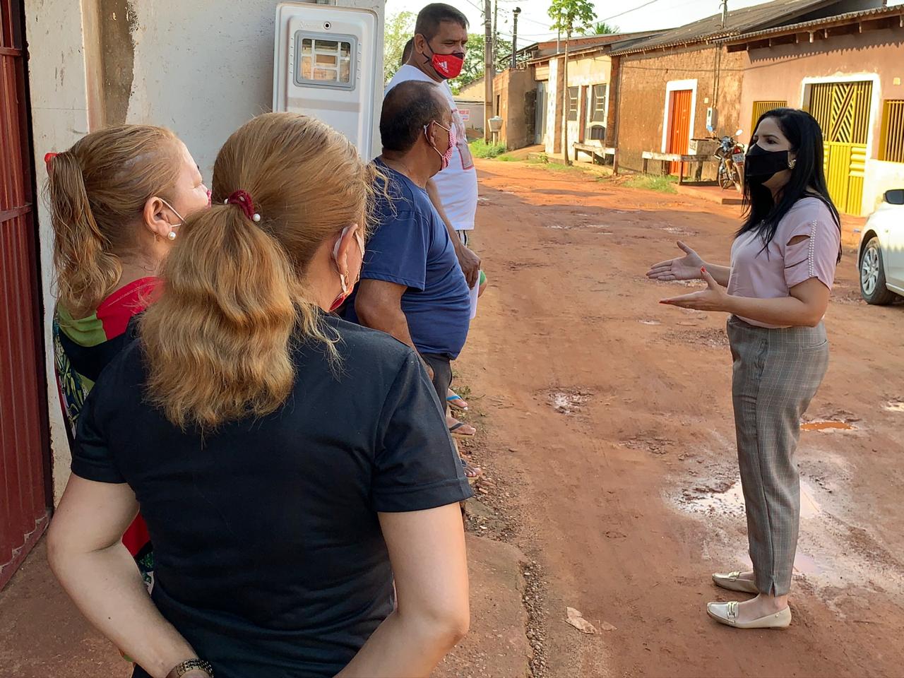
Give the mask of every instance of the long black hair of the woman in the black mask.
[[[766, 186], [744, 182], [745, 219], [735, 237], [755, 231], [763, 240], [765, 250], [776, 237], [778, 222], [798, 200], [805, 197], [823, 201], [832, 212], [835, 225], [841, 231], [841, 218], [832, 198], [829, 197], [829, 188], [825, 183], [823, 130], [819, 128], [819, 123], [805, 110], [773, 108], [759, 117], [754, 134], [759, 128], [759, 123], [765, 118], [775, 118], [782, 134], [791, 143], [791, 150], [796, 153], [795, 166], [777, 204], [772, 199], [772, 192]], [[841, 256], [839, 249], [839, 260]]]

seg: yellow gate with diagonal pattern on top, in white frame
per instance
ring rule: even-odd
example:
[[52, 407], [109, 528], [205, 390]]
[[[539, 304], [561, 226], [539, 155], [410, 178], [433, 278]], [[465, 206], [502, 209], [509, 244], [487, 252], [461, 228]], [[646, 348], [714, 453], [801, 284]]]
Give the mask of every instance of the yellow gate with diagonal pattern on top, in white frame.
[[823, 130], [829, 193], [838, 210], [847, 214], [862, 210], [871, 102], [869, 81], [820, 82], [810, 89], [810, 114]]

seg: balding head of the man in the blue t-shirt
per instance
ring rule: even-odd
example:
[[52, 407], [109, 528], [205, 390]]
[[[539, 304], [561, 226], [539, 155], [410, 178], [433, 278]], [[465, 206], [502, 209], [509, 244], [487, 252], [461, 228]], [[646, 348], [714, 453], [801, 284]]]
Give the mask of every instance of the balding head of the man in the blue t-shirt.
[[400, 82], [383, 99], [380, 116], [383, 149], [408, 153], [423, 137], [424, 127], [431, 122], [451, 127], [452, 112], [446, 95], [432, 82]]

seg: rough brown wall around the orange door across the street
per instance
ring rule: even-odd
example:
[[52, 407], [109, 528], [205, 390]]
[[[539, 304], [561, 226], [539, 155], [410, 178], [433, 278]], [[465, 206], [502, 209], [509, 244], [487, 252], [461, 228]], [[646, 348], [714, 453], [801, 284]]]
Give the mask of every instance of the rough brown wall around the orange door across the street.
[[[641, 153], [664, 152], [666, 89], [670, 81], [689, 80], [696, 89], [691, 137], [708, 137], [706, 109], [717, 109], [717, 135], [745, 127], [739, 116], [744, 73], [741, 53], [703, 46], [667, 54], [620, 57], [617, 98], [619, 166], [639, 171]], [[613, 107], [609, 101], [610, 110]], [[745, 132], [749, 130], [745, 129]]]

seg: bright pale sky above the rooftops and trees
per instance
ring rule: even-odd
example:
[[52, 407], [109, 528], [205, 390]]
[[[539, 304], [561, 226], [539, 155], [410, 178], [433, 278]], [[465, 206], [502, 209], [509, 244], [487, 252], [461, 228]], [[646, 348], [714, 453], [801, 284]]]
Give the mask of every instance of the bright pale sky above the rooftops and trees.
[[[386, 0], [386, 14], [408, 10], [417, 13], [429, 0]], [[462, 10], [471, 23], [471, 30], [483, 29], [482, 7], [484, 0], [447, 0]], [[518, 44], [554, 39], [549, 30], [547, 14], [549, 0], [491, 0], [499, 5], [499, 33], [506, 40], [512, 38], [512, 10], [521, 7], [518, 17]], [[768, 0], [728, 0], [729, 9], [762, 5]], [[899, 5], [904, 0], [891, 0], [889, 5]], [[597, 0], [598, 21], [618, 26], [623, 33], [673, 28], [690, 24], [698, 19], [719, 14], [720, 0]]]

